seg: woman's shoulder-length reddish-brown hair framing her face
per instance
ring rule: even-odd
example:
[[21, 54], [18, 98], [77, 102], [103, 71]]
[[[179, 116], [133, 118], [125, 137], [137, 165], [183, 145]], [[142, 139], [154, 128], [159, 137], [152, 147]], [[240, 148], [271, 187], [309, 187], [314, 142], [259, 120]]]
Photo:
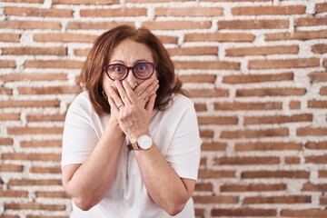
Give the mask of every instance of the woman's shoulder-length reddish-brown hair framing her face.
[[184, 94], [181, 81], [174, 74], [173, 62], [160, 40], [148, 29], [135, 29], [129, 25], [119, 25], [100, 35], [84, 63], [79, 82], [89, 92], [94, 110], [98, 114], [110, 113], [110, 105], [103, 93], [103, 67], [109, 61], [114, 48], [124, 39], [147, 45], [152, 51], [159, 80], [154, 108], [165, 110], [173, 93]]

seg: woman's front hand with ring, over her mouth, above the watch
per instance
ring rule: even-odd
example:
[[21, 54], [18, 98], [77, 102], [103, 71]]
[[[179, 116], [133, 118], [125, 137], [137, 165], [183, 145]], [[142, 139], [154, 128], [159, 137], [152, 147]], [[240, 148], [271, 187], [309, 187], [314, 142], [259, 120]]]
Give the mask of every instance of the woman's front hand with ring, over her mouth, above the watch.
[[[115, 92], [118, 91], [118, 94]], [[139, 98], [131, 86], [126, 82], [116, 80], [114, 87], [110, 87], [109, 104], [112, 107], [112, 112], [118, 119], [118, 123], [124, 134], [129, 140], [134, 143], [141, 134], [149, 134], [149, 124], [151, 114], [154, 110], [154, 101], [156, 94], [152, 94], [148, 103], [142, 105]], [[116, 105], [114, 99], [121, 99], [122, 105]]]

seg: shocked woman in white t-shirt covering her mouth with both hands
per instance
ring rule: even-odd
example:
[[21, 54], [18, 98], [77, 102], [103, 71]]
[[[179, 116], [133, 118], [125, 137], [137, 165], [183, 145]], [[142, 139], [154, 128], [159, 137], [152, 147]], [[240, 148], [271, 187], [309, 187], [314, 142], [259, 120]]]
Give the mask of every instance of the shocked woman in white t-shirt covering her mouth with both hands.
[[196, 114], [157, 37], [127, 25], [104, 33], [80, 79], [63, 136], [71, 217], [194, 217]]

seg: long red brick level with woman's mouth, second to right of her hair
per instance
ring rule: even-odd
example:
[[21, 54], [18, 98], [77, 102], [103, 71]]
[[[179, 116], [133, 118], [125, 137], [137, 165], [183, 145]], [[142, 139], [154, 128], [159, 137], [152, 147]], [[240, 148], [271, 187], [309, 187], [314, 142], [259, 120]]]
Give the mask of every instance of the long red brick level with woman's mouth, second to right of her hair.
[[236, 96], [287, 96], [287, 95], [304, 95], [305, 88], [254, 88], [236, 90]]

